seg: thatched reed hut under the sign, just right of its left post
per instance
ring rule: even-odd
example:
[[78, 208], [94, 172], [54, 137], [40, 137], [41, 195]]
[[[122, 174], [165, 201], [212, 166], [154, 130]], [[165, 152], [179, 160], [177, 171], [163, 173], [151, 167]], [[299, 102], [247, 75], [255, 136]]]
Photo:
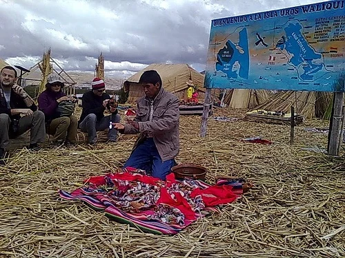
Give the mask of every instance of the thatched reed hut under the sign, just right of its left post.
[[223, 103], [233, 109], [253, 109], [265, 103], [271, 94], [265, 89], [229, 89]]

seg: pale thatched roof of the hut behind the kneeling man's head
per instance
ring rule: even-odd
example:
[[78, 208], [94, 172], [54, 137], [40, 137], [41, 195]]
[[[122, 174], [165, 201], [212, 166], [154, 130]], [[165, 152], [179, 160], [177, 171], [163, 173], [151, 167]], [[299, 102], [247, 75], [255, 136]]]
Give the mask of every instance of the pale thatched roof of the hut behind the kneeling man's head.
[[168, 92], [180, 92], [187, 89], [187, 81], [193, 80], [193, 84], [197, 86], [197, 89], [201, 92], [205, 92], [204, 89], [204, 75], [197, 72], [195, 69], [186, 64], [164, 64], [153, 63], [148, 67], [142, 69], [137, 74], [134, 74], [128, 80], [124, 82], [124, 90], [128, 92], [130, 84], [138, 83], [141, 74], [148, 70], [156, 70], [161, 76], [164, 89]]

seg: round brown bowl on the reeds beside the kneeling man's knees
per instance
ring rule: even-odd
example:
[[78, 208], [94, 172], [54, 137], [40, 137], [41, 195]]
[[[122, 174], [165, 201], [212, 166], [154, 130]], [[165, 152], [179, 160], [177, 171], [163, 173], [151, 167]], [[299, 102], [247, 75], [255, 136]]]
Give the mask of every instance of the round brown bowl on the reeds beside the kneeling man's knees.
[[172, 173], [175, 174], [175, 178], [193, 178], [194, 180], [205, 180], [207, 169], [204, 166], [198, 166], [195, 164], [179, 164], [172, 166]]

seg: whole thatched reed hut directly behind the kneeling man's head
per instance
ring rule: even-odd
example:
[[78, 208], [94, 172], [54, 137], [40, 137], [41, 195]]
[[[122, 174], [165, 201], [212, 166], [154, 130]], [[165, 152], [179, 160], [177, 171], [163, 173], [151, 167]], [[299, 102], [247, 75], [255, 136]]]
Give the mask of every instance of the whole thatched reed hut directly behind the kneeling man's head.
[[133, 103], [138, 98], [144, 96], [142, 87], [139, 86], [139, 78], [141, 74], [148, 70], [156, 70], [161, 76], [164, 89], [168, 92], [176, 94], [180, 100], [187, 98], [187, 81], [193, 80], [193, 84], [199, 92], [199, 101], [204, 100], [204, 75], [186, 64], [162, 64], [154, 63], [134, 74], [124, 82], [124, 91], [128, 93], [128, 102]]

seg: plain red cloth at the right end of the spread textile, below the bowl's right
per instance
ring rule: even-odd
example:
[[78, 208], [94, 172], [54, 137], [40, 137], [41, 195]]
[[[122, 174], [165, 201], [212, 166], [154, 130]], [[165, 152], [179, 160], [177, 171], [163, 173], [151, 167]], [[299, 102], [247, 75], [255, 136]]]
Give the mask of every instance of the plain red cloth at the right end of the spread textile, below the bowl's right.
[[210, 186], [207, 189], [195, 189], [190, 193], [190, 197], [201, 195], [206, 207], [216, 206], [219, 204], [227, 204], [234, 202], [238, 195], [232, 191], [233, 186]]

